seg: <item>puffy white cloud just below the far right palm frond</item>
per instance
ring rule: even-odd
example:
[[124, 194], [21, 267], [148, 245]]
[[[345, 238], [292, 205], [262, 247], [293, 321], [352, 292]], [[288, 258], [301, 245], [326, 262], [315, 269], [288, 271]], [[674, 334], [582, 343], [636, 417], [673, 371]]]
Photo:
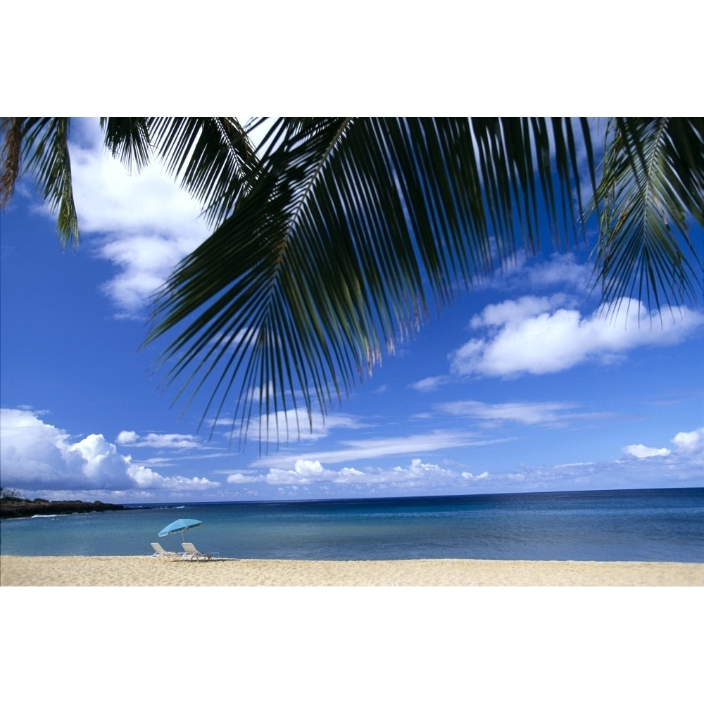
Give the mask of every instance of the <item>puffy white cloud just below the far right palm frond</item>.
[[516, 377], [560, 372], [585, 362], [612, 363], [645, 345], [672, 345], [704, 325], [704, 315], [675, 308], [672, 315], [650, 313], [624, 299], [613, 315], [604, 307], [593, 315], [559, 307], [560, 297], [524, 296], [486, 306], [471, 321], [483, 329], [449, 356], [455, 375]]

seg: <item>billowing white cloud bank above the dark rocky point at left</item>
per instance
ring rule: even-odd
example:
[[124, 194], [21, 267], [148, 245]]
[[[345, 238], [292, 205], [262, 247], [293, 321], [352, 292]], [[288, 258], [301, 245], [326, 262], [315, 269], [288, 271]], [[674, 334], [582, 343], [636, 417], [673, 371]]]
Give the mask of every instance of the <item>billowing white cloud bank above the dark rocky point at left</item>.
[[[0, 462], [5, 486], [44, 490], [214, 489], [204, 477], [163, 477], [122, 455], [102, 434], [72, 439], [30, 410], [0, 409]], [[122, 434], [120, 434], [122, 435]], [[129, 432], [127, 436], [130, 437]]]

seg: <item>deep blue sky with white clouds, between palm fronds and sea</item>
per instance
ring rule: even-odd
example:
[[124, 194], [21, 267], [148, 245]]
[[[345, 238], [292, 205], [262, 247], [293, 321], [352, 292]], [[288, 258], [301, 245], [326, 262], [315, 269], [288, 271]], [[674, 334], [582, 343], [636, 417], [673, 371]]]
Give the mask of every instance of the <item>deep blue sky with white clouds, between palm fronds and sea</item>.
[[[208, 234], [158, 166], [72, 126], [82, 246], [21, 182], [0, 215], [2, 485], [27, 496], [246, 501], [704, 485], [704, 308], [615, 317], [591, 242], [518, 263], [384, 356], [313, 434], [260, 454], [171, 408], [138, 351], [149, 296]], [[694, 239], [702, 249], [700, 230]], [[210, 437], [210, 430], [213, 436]]]

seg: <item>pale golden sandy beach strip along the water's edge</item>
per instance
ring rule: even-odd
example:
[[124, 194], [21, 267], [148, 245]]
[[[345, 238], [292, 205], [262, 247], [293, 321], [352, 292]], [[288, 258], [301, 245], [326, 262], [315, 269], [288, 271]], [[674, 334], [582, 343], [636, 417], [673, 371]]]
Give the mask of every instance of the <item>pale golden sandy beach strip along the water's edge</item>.
[[704, 586], [704, 563], [2, 555], [1, 586]]

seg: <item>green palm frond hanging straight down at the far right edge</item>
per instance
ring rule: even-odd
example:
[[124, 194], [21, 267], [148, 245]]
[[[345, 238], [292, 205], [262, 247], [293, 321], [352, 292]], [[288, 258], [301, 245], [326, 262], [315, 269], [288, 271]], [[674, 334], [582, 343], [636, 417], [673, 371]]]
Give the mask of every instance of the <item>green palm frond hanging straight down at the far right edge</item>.
[[696, 301], [701, 262], [689, 218], [704, 227], [704, 118], [612, 118], [595, 203], [606, 303]]

